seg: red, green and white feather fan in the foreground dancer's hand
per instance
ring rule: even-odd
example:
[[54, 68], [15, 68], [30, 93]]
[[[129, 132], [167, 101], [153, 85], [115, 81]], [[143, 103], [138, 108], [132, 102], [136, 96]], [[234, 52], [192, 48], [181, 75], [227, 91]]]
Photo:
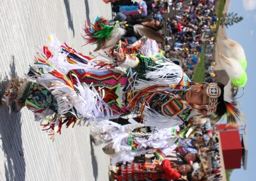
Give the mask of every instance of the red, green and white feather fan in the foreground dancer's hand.
[[84, 26], [84, 33], [86, 34], [83, 36], [86, 40], [85, 45], [96, 44], [97, 47], [94, 51], [114, 47], [116, 42], [125, 34], [125, 30], [117, 22], [111, 25], [103, 17], [97, 17], [94, 24], [89, 26], [85, 24]]

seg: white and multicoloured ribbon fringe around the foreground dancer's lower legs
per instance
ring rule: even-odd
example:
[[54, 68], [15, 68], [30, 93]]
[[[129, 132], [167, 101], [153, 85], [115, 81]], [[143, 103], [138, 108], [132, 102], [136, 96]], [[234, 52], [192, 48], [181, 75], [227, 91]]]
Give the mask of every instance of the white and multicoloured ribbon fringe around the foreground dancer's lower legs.
[[[81, 83], [76, 75], [76, 85], [67, 76], [71, 69], [98, 69], [94, 63], [86, 57], [79, 55], [75, 50], [61, 48], [60, 42], [53, 36], [49, 37], [50, 45], [55, 52], [50, 52], [48, 48], [43, 48], [43, 54], [35, 57], [35, 63], [31, 66], [31, 71], [35, 76], [29, 81], [35, 81], [43, 85], [58, 104], [58, 112], [52, 110], [34, 111], [35, 119], [40, 121], [43, 130], [47, 131], [54, 140], [54, 133], [61, 134], [61, 127], [74, 127], [76, 124], [97, 124], [97, 118], [108, 119], [113, 116], [111, 108], [103, 101], [104, 90], [93, 85]], [[64, 51], [65, 50], [65, 51]], [[45, 52], [44, 52], [45, 51]], [[67, 52], [83, 59], [84, 63], [69, 59]], [[108, 117], [108, 118], [107, 118]], [[46, 122], [45, 122], [46, 121]]]

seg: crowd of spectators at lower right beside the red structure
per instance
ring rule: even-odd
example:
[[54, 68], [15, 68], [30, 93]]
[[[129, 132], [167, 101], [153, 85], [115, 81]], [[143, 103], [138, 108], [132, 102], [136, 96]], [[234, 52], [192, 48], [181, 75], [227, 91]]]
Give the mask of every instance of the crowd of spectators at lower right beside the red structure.
[[190, 179], [221, 180], [218, 133], [209, 119], [195, 118], [193, 122], [180, 133], [177, 145], [181, 152], [196, 155], [196, 159], [191, 159], [193, 172]]

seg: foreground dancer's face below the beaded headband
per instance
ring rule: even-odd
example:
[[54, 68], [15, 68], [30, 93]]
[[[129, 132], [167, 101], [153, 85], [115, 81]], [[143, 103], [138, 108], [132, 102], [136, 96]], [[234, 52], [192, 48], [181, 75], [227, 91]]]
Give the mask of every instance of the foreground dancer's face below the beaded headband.
[[196, 105], [208, 105], [209, 97], [207, 96], [206, 89], [208, 87], [207, 83], [200, 83], [194, 85], [189, 89], [185, 94], [185, 100], [189, 103], [193, 103]]

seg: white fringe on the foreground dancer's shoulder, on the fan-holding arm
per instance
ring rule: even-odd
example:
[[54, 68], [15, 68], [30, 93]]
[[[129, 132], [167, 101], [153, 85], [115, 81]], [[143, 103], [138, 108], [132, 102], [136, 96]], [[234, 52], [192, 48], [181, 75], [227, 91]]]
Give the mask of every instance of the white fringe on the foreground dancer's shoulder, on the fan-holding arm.
[[135, 89], [143, 89], [151, 85], [172, 85], [178, 84], [183, 78], [183, 71], [180, 66], [173, 62], [158, 62], [157, 66], [152, 67], [154, 71], [147, 71], [145, 78], [147, 80], [137, 80]]

